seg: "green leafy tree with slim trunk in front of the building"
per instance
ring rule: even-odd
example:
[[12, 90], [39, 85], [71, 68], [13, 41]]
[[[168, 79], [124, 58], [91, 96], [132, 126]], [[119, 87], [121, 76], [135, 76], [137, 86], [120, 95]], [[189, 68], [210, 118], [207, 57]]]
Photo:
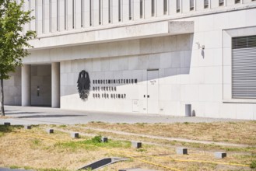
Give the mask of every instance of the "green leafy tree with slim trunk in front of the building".
[[9, 79], [9, 73], [22, 65], [24, 57], [32, 48], [29, 40], [36, 37], [35, 31], [23, 33], [23, 26], [30, 23], [31, 11], [23, 11], [24, 0], [0, 0], [0, 103], [2, 116], [5, 116], [3, 80]]

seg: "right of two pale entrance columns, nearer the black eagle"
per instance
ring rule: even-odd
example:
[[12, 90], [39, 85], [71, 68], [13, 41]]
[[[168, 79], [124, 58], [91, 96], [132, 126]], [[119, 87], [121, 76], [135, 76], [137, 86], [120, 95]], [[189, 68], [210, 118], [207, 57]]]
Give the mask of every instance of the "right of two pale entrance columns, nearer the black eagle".
[[60, 90], [60, 63], [54, 62], [51, 64], [51, 107], [60, 107]]

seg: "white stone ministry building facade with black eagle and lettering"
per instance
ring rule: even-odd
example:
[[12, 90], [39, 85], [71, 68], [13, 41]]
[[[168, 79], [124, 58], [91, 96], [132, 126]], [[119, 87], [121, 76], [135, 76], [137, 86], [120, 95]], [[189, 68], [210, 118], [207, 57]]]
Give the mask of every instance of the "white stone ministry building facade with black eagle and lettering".
[[6, 105], [184, 116], [191, 104], [198, 117], [256, 119], [254, 0], [26, 0], [24, 9], [37, 39], [4, 82]]

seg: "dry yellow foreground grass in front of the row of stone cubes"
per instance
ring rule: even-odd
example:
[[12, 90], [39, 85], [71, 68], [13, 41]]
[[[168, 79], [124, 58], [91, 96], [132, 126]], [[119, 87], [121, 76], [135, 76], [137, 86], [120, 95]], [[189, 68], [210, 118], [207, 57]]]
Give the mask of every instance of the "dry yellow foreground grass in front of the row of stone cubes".
[[[72, 126], [64, 125], [59, 127], [68, 130], [72, 128]], [[108, 127], [108, 129], [110, 128]], [[32, 130], [24, 130], [22, 127], [5, 127], [1, 131], [3, 135], [0, 137], [0, 166], [37, 170], [75, 170], [97, 159], [117, 156], [127, 157], [129, 160], [117, 162], [101, 170], [124, 168], [155, 170], [170, 170], [167, 168], [180, 170], [251, 170], [249, 167], [220, 165], [216, 162], [234, 162], [249, 165], [251, 161], [256, 160], [255, 155], [240, 155], [236, 153], [228, 154], [225, 159], [215, 159], [212, 152], [192, 149], [189, 149], [189, 155], [176, 155], [175, 148], [164, 145], [143, 145], [142, 148], [135, 149], [130, 147], [128, 141], [110, 140], [107, 144], [95, 143], [89, 137], [72, 139], [69, 134], [61, 131], [47, 134], [45, 126], [34, 126]], [[117, 134], [112, 135], [117, 136]], [[148, 139], [148, 141], [156, 140]], [[162, 144], [165, 143], [162, 142]], [[176, 161], [177, 159], [188, 161], [178, 162]], [[194, 160], [194, 162], [191, 160]], [[210, 162], [195, 162], [200, 160]], [[152, 163], [149, 164], [149, 162]], [[154, 166], [153, 163], [158, 166]]]

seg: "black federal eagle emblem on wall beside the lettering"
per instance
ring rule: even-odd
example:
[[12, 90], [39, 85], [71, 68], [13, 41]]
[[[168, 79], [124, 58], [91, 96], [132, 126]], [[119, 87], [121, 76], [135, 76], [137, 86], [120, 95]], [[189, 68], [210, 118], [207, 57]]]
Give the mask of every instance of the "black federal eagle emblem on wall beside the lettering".
[[85, 70], [79, 72], [79, 79], [77, 80], [77, 89], [79, 90], [79, 96], [82, 100], [86, 101], [89, 96], [89, 74]]

